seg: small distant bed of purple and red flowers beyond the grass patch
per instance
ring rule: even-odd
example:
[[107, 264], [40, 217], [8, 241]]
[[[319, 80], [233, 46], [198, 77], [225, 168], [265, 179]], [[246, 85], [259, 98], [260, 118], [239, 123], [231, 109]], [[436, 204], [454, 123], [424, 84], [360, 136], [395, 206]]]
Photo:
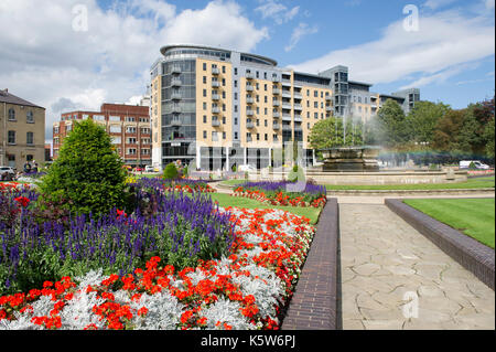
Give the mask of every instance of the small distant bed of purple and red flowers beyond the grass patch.
[[248, 182], [238, 186], [233, 196], [254, 199], [271, 205], [323, 206], [327, 200], [323, 185], [298, 182]]

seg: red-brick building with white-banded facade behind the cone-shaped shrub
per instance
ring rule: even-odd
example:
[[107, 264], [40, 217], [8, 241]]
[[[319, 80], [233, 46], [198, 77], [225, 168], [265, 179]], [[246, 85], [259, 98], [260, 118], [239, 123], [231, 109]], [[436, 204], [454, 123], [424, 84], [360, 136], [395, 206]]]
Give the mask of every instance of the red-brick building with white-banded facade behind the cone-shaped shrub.
[[61, 115], [53, 124], [53, 158], [58, 156], [65, 136], [73, 129], [74, 121], [93, 119], [105, 127], [112, 142], [130, 167], [151, 164], [151, 126], [149, 106], [103, 104], [100, 111], [71, 111]]

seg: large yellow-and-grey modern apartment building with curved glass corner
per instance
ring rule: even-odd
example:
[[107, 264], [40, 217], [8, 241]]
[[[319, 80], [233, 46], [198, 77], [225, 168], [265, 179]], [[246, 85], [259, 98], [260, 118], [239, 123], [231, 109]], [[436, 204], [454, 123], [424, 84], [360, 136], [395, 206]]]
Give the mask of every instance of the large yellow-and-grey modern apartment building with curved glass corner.
[[314, 75], [269, 57], [195, 45], [166, 45], [161, 54], [150, 73], [153, 166], [278, 167], [281, 156], [292, 160], [294, 142], [311, 164], [315, 122], [333, 115], [365, 121], [377, 113], [371, 84], [349, 81], [346, 66]]

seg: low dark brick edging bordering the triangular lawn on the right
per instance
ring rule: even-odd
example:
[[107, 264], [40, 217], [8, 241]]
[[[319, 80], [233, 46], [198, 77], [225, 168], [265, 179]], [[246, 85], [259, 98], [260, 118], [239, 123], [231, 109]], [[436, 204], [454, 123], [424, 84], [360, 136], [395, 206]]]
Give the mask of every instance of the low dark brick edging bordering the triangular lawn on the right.
[[493, 248], [405, 204], [402, 200], [386, 199], [385, 204], [494, 290], [495, 252]]

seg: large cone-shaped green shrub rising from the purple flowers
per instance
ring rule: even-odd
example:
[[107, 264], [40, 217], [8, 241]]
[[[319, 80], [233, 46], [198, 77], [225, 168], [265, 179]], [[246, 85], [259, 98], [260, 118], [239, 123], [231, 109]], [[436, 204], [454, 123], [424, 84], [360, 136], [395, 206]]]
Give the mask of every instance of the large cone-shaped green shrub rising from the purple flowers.
[[60, 156], [40, 183], [43, 202], [67, 200], [75, 214], [107, 213], [126, 206], [126, 175], [110, 136], [93, 120], [74, 124]]

